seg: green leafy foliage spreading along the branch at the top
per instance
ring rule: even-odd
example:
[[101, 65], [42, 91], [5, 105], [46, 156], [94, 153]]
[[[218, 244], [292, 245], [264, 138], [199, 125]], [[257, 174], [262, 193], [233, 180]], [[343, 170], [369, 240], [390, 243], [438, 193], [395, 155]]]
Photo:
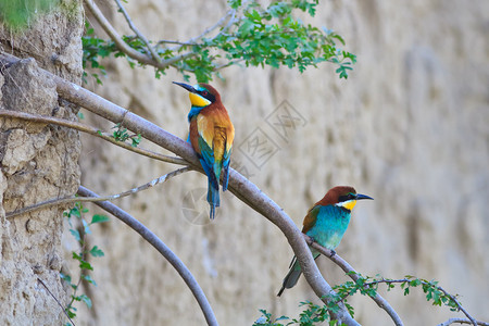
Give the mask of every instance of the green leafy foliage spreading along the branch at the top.
[[[150, 41], [151, 46], [155, 45], [161, 61], [171, 61], [168, 65], [154, 65], [155, 77], [160, 78], [170, 66], [177, 68], [186, 80], [193, 74], [198, 82], [209, 82], [214, 75], [221, 76], [220, 70], [234, 64], [297, 67], [302, 73], [309, 66], [330, 62], [338, 66], [336, 73], [340, 78], [348, 78], [356, 57], [338, 47], [344, 46], [342, 37], [333, 30], [305, 24], [294, 15], [304, 12], [314, 16], [317, 3], [317, 0], [283, 0], [263, 8], [258, 1], [229, 0], [233, 15], [215, 36], [203, 34], [188, 42]], [[93, 29], [87, 27], [83, 39], [84, 67], [90, 66], [105, 74], [99, 58], [110, 54], [126, 58], [131, 67], [145, 66], [117, 49], [113, 41], [97, 38], [92, 33]], [[150, 55], [138, 37], [123, 36], [123, 40], [134, 50]], [[167, 47], [167, 43], [178, 46]], [[93, 76], [100, 83], [99, 75]]]

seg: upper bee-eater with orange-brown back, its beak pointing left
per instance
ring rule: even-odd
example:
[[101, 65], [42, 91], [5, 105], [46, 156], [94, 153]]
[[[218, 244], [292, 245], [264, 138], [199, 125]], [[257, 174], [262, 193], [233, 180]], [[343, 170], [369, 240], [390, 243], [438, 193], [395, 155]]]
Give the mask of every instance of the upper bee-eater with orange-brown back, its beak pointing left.
[[215, 208], [220, 206], [220, 178], [223, 172], [223, 191], [229, 181], [229, 160], [235, 139], [233, 126], [221, 96], [209, 84], [190, 86], [176, 83], [189, 91], [191, 103], [188, 122], [189, 141], [197, 152], [200, 163], [208, 175], [208, 202], [211, 205], [210, 217], [214, 220]]

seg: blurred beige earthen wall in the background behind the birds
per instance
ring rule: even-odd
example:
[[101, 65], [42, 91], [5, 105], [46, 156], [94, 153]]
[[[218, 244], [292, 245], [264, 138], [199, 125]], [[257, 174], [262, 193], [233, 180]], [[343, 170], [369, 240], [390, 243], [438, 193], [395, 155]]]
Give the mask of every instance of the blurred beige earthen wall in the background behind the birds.
[[[127, 9], [149, 38], [180, 40], [226, 11], [224, 3], [210, 1], [131, 1]], [[355, 208], [338, 253], [366, 275], [437, 279], [486, 321], [488, 12], [484, 0], [324, 1], [311, 22], [335, 29], [358, 54], [348, 80], [323, 64], [304, 74], [236, 66], [213, 83], [236, 126], [233, 164], [298, 225], [327, 189], [354, 186], [375, 201]], [[121, 16], [114, 25], [125, 28]], [[170, 72], [156, 80], [151, 68], [129, 70], [124, 60], [108, 63], [108, 71], [98, 93], [187, 137], [188, 98], [171, 84], [181, 80], [179, 75]], [[300, 114], [286, 137], [272, 127], [277, 112], [286, 110], [283, 101]], [[267, 137], [276, 152], [253, 153], [255, 137]], [[83, 137], [83, 146], [82, 183], [99, 193], [116, 193], [174, 168], [91, 138]], [[180, 256], [221, 325], [251, 325], [259, 309], [294, 316], [300, 301], [316, 302], [303, 279], [276, 297], [291, 249], [274, 225], [230, 193], [223, 196], [213, 223], [184, 214], [184, 198], [205, 187], [204, 176], [192, 172], [116, 203]], [[208, 206], [200, 202], [198, 210], [206, 213]], [[204, 323], [177, 273], [138, 235], [115, 218], [93, 228], [92, 241], [105, 256], [93, 261], [95, 309], [82, 310], [80, 325]], [[330, 284], [347, 280], [327, 259], [317, 262]], [[404, 298], [394, 290], [386, 298], [406, 325], [461, 316], [432, 308], [416, 291]], [[372, 300], [352, 303], [364, 325], [391, 325]]]

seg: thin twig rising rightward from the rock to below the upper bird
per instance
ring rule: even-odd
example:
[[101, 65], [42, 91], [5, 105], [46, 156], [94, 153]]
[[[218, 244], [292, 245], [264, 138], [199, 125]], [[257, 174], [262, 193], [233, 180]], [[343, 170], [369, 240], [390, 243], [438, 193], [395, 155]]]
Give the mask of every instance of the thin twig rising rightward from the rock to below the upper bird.
[[37, 204], [34, 204], [34, 205], [29, 205], [29, 206], [26, 206], [26, 208], [23, 208], [23, 209], [13, 211], [13, 212], [9, 212], [9, 213], [5, 214], [5, 217], [7, 218], [13, 218], [13, 217], [18, 216], [21, 214], [26, 214], [26, 213], [30, 213], [33, 211], [37, 211], [37, 210], [40, 210], [40, 209], [46, 209], [46, 208], [50, 208], [50, 206], [53, 206], [53, 205], [61, 205], [61, 204], [66, 204], [66, 203], [72, 203], [72, 202], [86, 202], [86, 201], [97, 202], [97, 201], [116, 200], [116, 199], [120, 199], [120, 198], [123, 198], [123, 197], [127, 197], [129, 195], [135, 195], [136, 192], [149, 189], [151, 187], [154, 187], [154, 186], [156, 186], [159, 184], [167, 181], [171, 178], [173, 178], [173, 177], [175, 177], [175, 176], [177, 176], [177, 175], [179, 175], [181, 173], [185, 173], [187, 171], [190, 171], [190, 170], [191, 170], [191, 167], [189, 167], [189, 166], [185, 166], [185, 167], [175, 170], [175, 171], [173, 171], [173, 172], [171, 172], [168, 174], [165, 174], [165, 175], [163, 175], [163, 176], [161, 176], [159, 178], [155, 178], [155, 179], [153, 179], [153, 180], [151, 180], [151, 181], [149, 181], [149, 183], [147, 183], [147, 184], [145, 184], [142, 186], [139, 186], [139, 187], [136, 187], [136, 188], [133, 188], [133, 189], [129, 189], [127, 191], [124, 191], [124, 192], [121, 192], [121, 193], [116, 193], [116, 195], [111, 195], [111, 196], [105, 196], [105, 197], [96, 197], [96, 198], [79, 198], [79, 197], [76, 197], [76, 196], [70, 196], [70, 197], [64, 197], [64, 198], [50, 199], [50, 200], [47, 200], [47, 201], [43, 201], [43, 202], [39, 202]]

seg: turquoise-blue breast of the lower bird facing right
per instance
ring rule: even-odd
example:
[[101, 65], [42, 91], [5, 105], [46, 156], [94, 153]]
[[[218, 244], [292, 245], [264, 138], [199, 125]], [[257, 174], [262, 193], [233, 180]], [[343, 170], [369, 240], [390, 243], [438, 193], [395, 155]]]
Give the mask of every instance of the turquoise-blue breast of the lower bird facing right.
[[321, 246], [334, 250], [350, 224], [350, 212], [334, 205], [318, 205], [313, 210], [318, 210], [316, 222], [305, 234]]

